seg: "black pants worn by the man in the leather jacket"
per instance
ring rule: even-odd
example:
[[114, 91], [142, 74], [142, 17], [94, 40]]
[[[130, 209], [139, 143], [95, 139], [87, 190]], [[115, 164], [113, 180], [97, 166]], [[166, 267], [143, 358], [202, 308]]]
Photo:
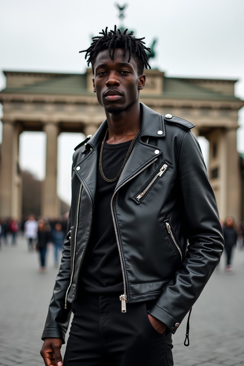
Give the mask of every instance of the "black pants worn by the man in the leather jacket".
[[80, 293], [64, 366], [172, 366], [172, 333], [160, 334], [147, 310], [155, 300], [127, 303], [121, 312], [117, 294]]

